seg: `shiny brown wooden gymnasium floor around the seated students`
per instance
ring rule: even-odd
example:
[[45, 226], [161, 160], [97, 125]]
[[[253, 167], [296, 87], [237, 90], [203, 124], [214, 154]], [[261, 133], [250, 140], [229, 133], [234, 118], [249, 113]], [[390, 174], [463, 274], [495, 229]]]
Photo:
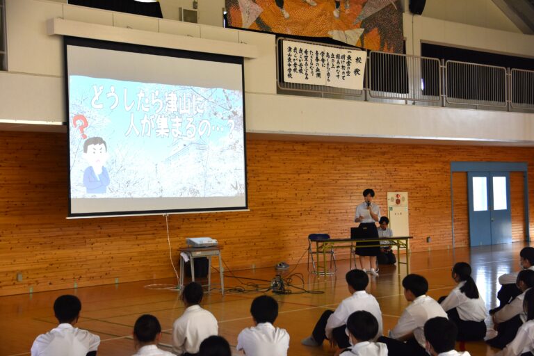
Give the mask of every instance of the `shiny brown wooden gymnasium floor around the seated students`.
[[[473, 266], [473, 277], [478, 289], [486, 301], [487, 308], [495, 306], [497, 278], [519, 268], [519, 250], [525, 243], [494, 245], [480, 248], [459, 248], [419, 252], [411, 254], [412, 273], [424, 275], [430, 284], [428, 294], [433, 298], [446, 295], [453, 288], [451, 266], [457, 261], [468, 261]], [[404, 257], [401, 257], [404, 258]], [[293, 275], [293, 284], [306, 289], [324, 293], [300, 293], [274, 296], [280, 303], [280, 315], [275, 325], [286, 328], [291, 335], [289, 355], [332, 355], [327, 343], [322, 348], [302, 346], [300, 340], [311, 332], [318, 316], [325, 309], [335, 308], [339, 301], [348, 296], [344, 275], [349, 268], [348, 260], [338, 261], [337, 275], [332, 277], [314, 277], [309, 275], [305, 264], [300, 264], [289, 273], [302, 273], [305, 284]], [[403, 266], [401, 266], [402, 268]], [[273, 268], [236, 271], [241, 277], [270, 280], [275, 275]], [[246, 283], [258, 283], [265, 286], [267, 282], [254, 280], [236, 280], [227, 272], [225, 284], [229, 287], [241, 285], [252, 289]], [[402, 276], [404, 276], [404, 269]], [[132, 282], [117, 285], [95, 286], [77, 290], [63, 290], [33, 295], [8, 296], [0, 298], [0, 355], [29, 355], [35, 337], [55, 326], [52, 304], [57, 296], [74, 293], [82, 301], [79, 327], [99, 334], [102, 339], [99, 356], [133, 355], [131, 330], [140, 314], [154, 314], [159, 318], [164, 330], [162, 342], [170, 344], [172, 322], [181, 315], [184, 307], [176, 291], [167, 289], [147, 289], [147, 284], [175, 283], [175, 279]], [[217, 281], [216, 281], [217, 282]], [[292, 288], [294, 292], [298, 289]], [[395, 266], [382, 266], [379, 277], [371, 277], [368, 291], [380, 302], [384, 330], [393, 327], [406, 307], [402, 287]], [[204, 307], [209, 309], [219, 321], [220, 334], [232, 346], [236, 345], [238, 333], [252, 325], [249, 314], [250, 302], [261, 293], [227, 293], [224, 298], [213, 291], [204, 298]], [[490, 325], [487, 319], [488, 325]], [[494, 355], [496, 350], [483, 342], [467, 343], [471, 355]], [[238, 355], [238, 353], [235, 353]]]

